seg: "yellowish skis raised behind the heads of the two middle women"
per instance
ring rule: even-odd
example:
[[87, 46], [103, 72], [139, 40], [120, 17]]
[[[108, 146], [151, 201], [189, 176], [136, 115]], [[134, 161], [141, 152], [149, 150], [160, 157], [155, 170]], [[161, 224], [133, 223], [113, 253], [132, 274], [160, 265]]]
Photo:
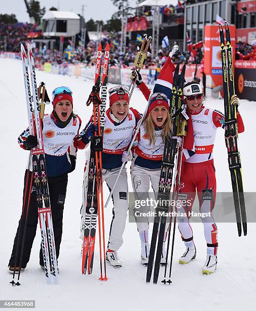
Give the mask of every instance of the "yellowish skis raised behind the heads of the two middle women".
[[[139, 51], [137, 52], [136, 58], [134, 60], [134, 68], [132, 69], [131, 73], [131, 82], [129, 85], [129, 99], [131, 99], [134, 87], [135, 87], [135, 82], [136, 82], [136, 73], [135, 71], [139, 72], [140, 69], [144, 67], [145, 60], [147, 59], [147, 52], [149, 51], [150, 43], [151, 43], [152, 37], [150, 36], [149, 38], [147, 35], [144, 35], [141, 47]], [[139, 47], [138, 47], [139, 48]]]

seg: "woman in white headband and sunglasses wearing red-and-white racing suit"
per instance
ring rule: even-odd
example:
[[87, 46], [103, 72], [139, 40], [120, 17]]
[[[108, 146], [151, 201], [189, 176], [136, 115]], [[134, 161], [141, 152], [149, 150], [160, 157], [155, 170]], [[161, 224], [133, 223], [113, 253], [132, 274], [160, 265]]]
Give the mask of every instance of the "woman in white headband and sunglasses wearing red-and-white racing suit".
[[[137, 83], [137, 85], [144, 97], [148, 99], [150, 90], [147, 85], [143, 82], [140, 84]], [[208, 215], [201, 217], [207, 243], [207, 259], [203, 273], [212, 273], [216, 268], [218, 246], [217, 227], [211, 215], [216, 196], [216, 178], [212, 151], [216, 130], [221, 127], [223, 129], [225, 128], [225, 119], [220, 111], [203, 106], [203, 91], [197, 81], [190, 82], [185, 87], [190, 89], [189, 94], [193, 94], [194, 96], [188, 95], [185, 98], [187, 114], [190, 118], [188, 120], [187, 136], [184, 140], [179, 198], [186, 200], [187, 204], [178, 210], [182, 215], [178, 216], [178, 229], [181, 233], [182, 240], [185, 242], [186, 252], [180, 257], [179, 263], [188, 263], [196, 256], [193, 231], [189, 219], [197, 191], [200, 212], [207, 213]], [[236, 96], [233, 100], [236, 100], [236, 103], [238, 103]], [[238, 133], [242, 133], [244, 131], [244, 125], [239, 112], [237, 113], [237, 125]], [[203, 194], [208, 197], [208, 200], [203, 200]], [[209, 200], [209, 197], [212, 200]], [[209, 259], [212, 259], [211, 257], [213, 257], [214, 265], [212, 268], [209, 268], [209, 264], [211, 263]]]

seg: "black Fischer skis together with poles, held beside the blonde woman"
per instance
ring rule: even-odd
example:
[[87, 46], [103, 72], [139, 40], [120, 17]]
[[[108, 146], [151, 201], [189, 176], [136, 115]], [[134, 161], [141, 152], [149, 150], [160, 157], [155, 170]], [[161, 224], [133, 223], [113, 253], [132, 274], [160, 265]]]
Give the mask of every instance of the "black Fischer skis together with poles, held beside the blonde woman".
[[[173, 76], [173, 87], [172, 87], [172, 98], [170, 102], [170, 117], [172, 118], [172, 135], [171, 136], [185, 136], [184, 131], [180, 131], [181, 128], [184, 129], [182, 123], [180, 121], [180, 111], [181, 111], [181, 98], [182, 98], [182, 90], [185, 81], [185, 70], [186, 66], [184, 65], [181, 74], [179, 76], [179, 64], [177, 64], [174, 76]], [[182, 139], [183, 142], [183, 139]], [[161, 255], [162, 255], [162, 247], [164, 241], [164, 233], [165, 226], [167, 221], [166, 213], [169, 212], [169, 202], [170, 202], [170, 194], [171, 194], [171, 186], [172, 186], [172, 178], [174, 167], [175, 168], [175, 184], [173, 187], [173, 196], [172, 199], [177, 200], [178, 190], [179, 190], [179, 174], [181, 167], [181, 157], [182, 157], [182, 145], [177, 146], [177, 139], [167, 137], [164, 145], [164, 153], [163, 153], [163, 163], [161, 167], [160, 180], [159, 180], [159, 190], [157, 202], [162, 202], [158, 204], [156, 207], [156, 215], [154, 219], [154, 226], [151, 238], [150, 245], [150, 254], [149, 254], [149, 262], [147, 268], [147, 278], [146, 282], [151, 281], [151, 276], [153, 272], [154, 259], [154, 273], [153, 273], [153, 282], [157, 284], [158, 275], [161, 264]], [[178, 154], [178, 156], [177, 156]], [[174, 209], [176, 211], [176, 204], [174, 204]], [[171, 204], [171, 212], [173, 210], [173, 204]], [[175, 213], [176, 215], [176, 213]], [[170, 243], [170, 231], [171, 231], [171, 222], [172, 217], [170, 217], [169, 224], [169, 232], [168, 232], [168, 242], [167, 242], [167, 257], [166, 257], [166, 266], [165, 266], [165, 279], [164, 283], [171, 283], [170, 281], [170, 273], [169, 273], [169, 281], [166, 281], [166, 269], [167, 269], [167, 261], [168, 261], [168, 251], [169, 251], [169, 243]], [[174, 217], [174, 225], [173, 225], [173, 238], [172, 238], [172, 251], [171, 251], [171, 263], [172, 263], [172, 254], [173, 254], [173, 245], [174, 245], [174, 234], [175, 234], [175, 226], [176, 226], [176, 216]], [[155, 256], [156, 253], [156, 256]], [[171, 271], [171, 265], [170, 265]]]

